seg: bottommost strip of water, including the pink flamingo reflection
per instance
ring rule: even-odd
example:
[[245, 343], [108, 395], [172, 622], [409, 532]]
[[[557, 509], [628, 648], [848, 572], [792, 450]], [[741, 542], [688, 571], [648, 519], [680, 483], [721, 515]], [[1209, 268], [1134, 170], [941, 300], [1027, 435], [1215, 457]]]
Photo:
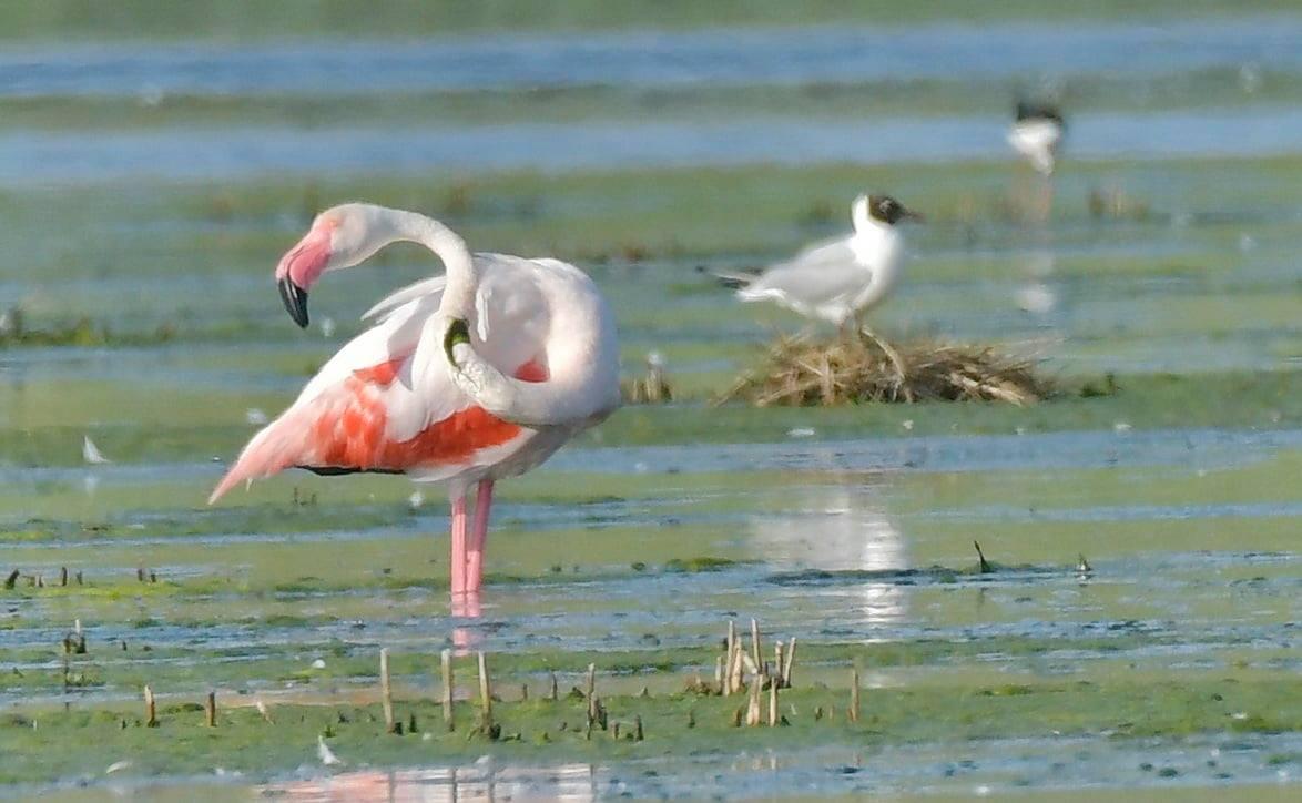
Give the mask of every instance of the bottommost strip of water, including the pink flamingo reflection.
[[[673, 798], [681, 795], [747, 799], [786, 794], [897, 795], [952, 794], [987, 796], [997, 789], [1104, 793], [1109, 783], [1125, 783], [1152, 794], [1165, 772], [1182, 786], [1223, 783], [1284, 783], [1289, 773], [1256, 765], [1250, 755], [1269, 743], [1272, 750], [1295, 750], [1299, 741], [1267, 738], [1247, 741], [1197, 739], [1180, 748], [1151, 754], [1150, 769], [1118, 746], [1085, 739], [1005, 741], [976, 746], [954, 756], [926, 746], [881, 751], [768, 750], [740, 756], [720, 772], [716, 759], [676, 763], [672, 769], [655, 760], [626, 768], [570, 764], [549, 768], [497, 767], [492, 761], [471, 767], [405, 772], [345, 773], [333, 778], [272, 783], [264, 791], [290, 800], [333, 800], [340, 795], [381, 799], [385, 795], [422, 800], [466, 798], [549, 798], [598, 800], [611, 796]], [[1174, 772], [1176, 774], [1170, 774]], [[941, 780], [937, 780], [941, 778]], [[1266, 796], [1269, 791], [1262, 790]], [[1187, 793], [1186, 793], [1187, 794]], [[1282, 789], [1280, 794], [1285, 794]], [[1254, 795], [1255, 798], [1255, 795]], [[1282, 799], [1282, 798], [1281, 798]]]

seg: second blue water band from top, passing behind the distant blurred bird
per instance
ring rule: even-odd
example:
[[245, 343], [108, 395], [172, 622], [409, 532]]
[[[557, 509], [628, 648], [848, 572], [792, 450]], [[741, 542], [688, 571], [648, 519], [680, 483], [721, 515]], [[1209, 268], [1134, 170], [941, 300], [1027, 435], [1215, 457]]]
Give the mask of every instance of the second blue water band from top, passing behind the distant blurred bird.
[[[392, 129], [151, 130], [115, 134], [3, 134], [0, 181], [203, 181], [266, 174], [402, 174], [443, 170], [681, 168], [844, 161], [880, 165], [1005, 159], [1006, 121], [918, 118], [790, 121], [780, 117], [702, 122]], [[1297, 154], [1302, 111], [1207, 109], [1095, 115], [1072, 129], [1083, 159], [1180, 159]], [[147, 165], [147, 167], [142, 167]]]

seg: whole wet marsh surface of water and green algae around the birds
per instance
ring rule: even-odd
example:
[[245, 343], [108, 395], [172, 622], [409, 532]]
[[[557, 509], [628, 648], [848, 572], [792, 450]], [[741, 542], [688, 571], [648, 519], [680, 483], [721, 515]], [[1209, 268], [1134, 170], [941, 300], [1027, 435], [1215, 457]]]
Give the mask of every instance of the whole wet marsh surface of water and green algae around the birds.
[[[1285, 799], [1302, 776], [1302, 22], [1263, 13], [1182, 22], [1125, 78], [1115, 57], [1152, 30], [1034, 12], [1021, 25], [1048, 38], [1013, 35], [990, 64], [1010, 34], [949, 18], [898, 38], [773, 12], [779, 27], [375, 39], [353, 47], [389, 83], [365, 103], [310, 35], [276, 69], [275, 42], [169, 34], [0, 57], [0, 575], [20, 571], [0, 590], [0, 794]], [[775, 48], [777, 72], [741, 69]], [[466, 66], [484, 60], [499, 72]], [[1079, 92], [1043, 217], [1004, 152], [1000, 81], [1019, 75]], [[802, 324], [708, 273], [842, 230], [866, 187], [930, 217], [874, 325], [1034, 354], [1057, 398], [711, 406]], [[449, 610], [439, 488], [286, 474], [203, 505], [357, 316], [437, 269], [395, 246], [332, 275], [297, 331], [271, 268], [314, 211], [359, 198], [590, 269], [625, 372], [659, 351], [680, 394], [503, 483], [475, 617]], [[87, 436], [112, 462], [85, 462]], [[736, 729], [742, 699], [685, 691], [751, 617], [769, 648], [799, 642], [786, 728]], [[87, 651], [65, 655], [78, 619]], [[385, 647], [417, 734], [383, 733]], [[466, 725], [470, 653], [490, 655], [506, 739], [443, 731], [444, 648]], [[564, 698], [590, 662], [646, 741], [582, 737], [585, 703]], [[344, 765], [322, 767], [322, 734]]]

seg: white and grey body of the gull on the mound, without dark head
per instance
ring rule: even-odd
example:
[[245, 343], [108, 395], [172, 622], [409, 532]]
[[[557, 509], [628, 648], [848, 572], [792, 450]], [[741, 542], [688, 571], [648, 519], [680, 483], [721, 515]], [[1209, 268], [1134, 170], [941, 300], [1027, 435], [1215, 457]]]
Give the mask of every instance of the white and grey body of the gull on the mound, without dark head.
[[904, 262], [896, 226], [868, 215], [863, 195], [852, 207], [854, 233], [822, 242], [779, 263], [737, 290], [742, 301], [772, 301], [806, 318], [844, 325], [894, 289]]

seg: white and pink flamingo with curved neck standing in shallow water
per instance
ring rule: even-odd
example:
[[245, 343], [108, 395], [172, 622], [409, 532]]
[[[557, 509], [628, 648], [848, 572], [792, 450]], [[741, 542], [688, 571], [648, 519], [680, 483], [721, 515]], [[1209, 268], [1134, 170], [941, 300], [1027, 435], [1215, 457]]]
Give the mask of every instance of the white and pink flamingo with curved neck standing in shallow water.
[[434, 251], [445, 275], [371, 307], [363, 318], [374, 325], [249, 441], [208, 504], [289, 467], [444, 482], [453, 600], [478, 596], [493, 483], [538, 466], [620, 406], [615, 320], [572, 264], [471, 254], [437, 220], [363, 203], [318, 215], [280, 260], [275, 277], [289, 315], [306, 328], [307, 290], [323, 272], [398, 241]]

